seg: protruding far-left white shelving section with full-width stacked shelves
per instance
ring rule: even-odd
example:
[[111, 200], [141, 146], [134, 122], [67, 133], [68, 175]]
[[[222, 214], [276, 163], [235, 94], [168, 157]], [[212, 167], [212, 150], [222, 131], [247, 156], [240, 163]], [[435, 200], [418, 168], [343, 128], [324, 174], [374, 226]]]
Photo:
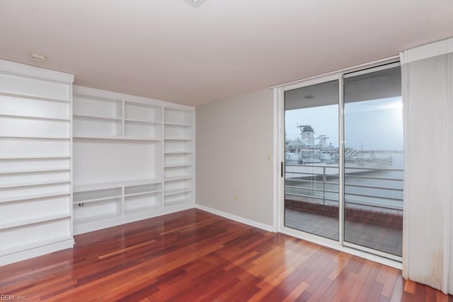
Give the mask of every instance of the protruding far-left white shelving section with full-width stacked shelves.
[[74, 244], [73, 81], [0, 60], [0, 265]]

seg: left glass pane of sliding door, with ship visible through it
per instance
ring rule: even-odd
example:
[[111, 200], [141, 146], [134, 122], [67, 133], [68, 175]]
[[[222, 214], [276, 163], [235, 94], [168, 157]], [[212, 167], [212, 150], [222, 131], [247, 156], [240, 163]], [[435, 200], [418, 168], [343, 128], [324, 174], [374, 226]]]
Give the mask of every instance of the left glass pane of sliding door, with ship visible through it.
[[338, 81], [285, 91], [285, 226], [338, 240], [338, 141]]

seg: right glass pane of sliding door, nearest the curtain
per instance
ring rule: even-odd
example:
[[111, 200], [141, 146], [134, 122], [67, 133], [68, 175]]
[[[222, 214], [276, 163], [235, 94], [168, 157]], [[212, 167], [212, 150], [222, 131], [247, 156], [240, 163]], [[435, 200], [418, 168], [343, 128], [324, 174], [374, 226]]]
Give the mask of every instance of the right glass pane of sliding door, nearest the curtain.
[[401, 256], [401, 69], [345, 76], [344, 240]]

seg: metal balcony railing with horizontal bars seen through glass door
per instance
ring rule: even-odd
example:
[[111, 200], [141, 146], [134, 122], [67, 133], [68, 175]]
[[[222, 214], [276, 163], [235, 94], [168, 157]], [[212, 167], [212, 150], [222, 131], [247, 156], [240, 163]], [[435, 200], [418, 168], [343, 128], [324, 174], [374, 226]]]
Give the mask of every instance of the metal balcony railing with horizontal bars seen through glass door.
[[[338, 207], [338, 167], [285, 166], [285, 198]], [[403, 170], [345, 166], [345, 206], [403, 211]]]

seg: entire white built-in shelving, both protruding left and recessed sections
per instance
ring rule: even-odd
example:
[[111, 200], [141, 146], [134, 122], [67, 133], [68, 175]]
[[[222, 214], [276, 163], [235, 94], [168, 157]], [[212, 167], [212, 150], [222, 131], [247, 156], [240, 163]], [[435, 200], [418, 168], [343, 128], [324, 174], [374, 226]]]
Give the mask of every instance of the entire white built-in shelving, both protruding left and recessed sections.
[[0, 60], [0, 265], [194, 206], [195, 108]]

